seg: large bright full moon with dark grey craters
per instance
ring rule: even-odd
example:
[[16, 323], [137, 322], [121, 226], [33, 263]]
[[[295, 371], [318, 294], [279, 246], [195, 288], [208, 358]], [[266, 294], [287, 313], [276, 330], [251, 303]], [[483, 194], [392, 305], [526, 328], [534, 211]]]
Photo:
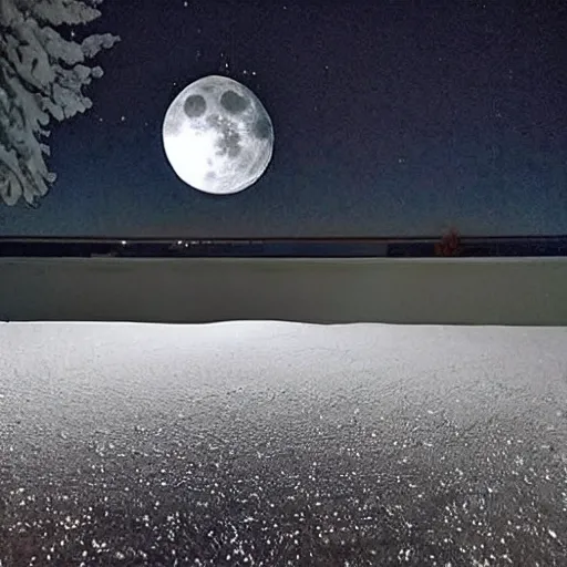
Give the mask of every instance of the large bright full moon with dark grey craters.
[[186, 86], [167, 109], [162, 135], [177, 176], [215, 195], [255, 184], [274, 151], [266, 109], [248, 87], [226, 76], [205, 76]]

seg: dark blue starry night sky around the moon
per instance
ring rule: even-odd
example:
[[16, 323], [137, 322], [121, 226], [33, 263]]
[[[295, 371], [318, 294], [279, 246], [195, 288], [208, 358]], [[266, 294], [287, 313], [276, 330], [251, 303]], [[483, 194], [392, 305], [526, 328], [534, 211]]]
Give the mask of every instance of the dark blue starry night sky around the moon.
[[[94, 106], [52, 128], [59, 178], [4, 235], [425, 236], [567, 233], [565, 0], [106, 0], [76, 34], [122, 41], [93, 63]], [[68, 33], [68, 31], [65, 31]], [[167, 106], [224, 74], [276, 134], [260, 181], [185, 185]]]

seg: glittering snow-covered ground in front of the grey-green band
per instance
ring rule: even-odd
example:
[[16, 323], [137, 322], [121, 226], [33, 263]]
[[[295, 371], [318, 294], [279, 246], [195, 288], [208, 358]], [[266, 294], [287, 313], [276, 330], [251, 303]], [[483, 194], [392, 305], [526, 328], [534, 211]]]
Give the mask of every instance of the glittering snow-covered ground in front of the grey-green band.
[[0, 344], [2, 567], [567, 565], [565, 327], [10, 322]]

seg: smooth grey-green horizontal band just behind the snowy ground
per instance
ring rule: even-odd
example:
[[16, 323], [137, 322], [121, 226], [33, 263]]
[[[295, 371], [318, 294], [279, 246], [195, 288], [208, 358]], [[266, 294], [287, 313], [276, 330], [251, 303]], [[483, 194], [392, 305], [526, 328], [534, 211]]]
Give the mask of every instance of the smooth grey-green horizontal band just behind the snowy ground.
[[567, 324], [567, 258], [1, 258], [1, 320]]

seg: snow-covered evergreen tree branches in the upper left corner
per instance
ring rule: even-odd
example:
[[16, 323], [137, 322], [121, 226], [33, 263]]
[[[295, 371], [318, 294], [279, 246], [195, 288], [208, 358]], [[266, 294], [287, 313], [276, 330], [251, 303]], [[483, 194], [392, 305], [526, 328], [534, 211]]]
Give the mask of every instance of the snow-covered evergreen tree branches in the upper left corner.
[[100, 78], [86, 60], [120, 38], [94, 34], [68, 41], [55, 30], [101, 16], [102, 0], [0, 0], [0, 199], [32, 206], [55, 181], [44, 156], [51, 118], [84, 112], [92, 101], [82, 89]]

